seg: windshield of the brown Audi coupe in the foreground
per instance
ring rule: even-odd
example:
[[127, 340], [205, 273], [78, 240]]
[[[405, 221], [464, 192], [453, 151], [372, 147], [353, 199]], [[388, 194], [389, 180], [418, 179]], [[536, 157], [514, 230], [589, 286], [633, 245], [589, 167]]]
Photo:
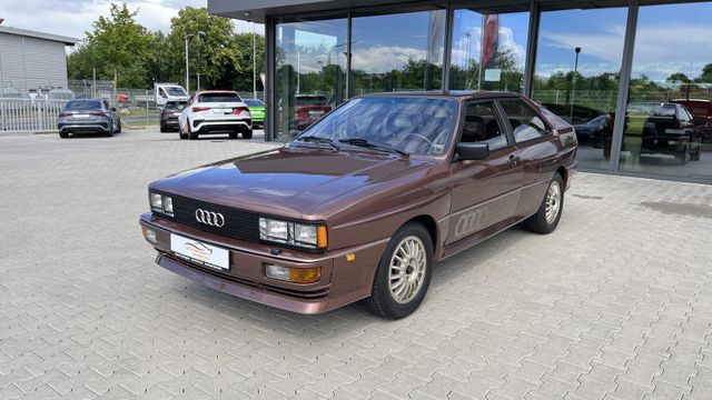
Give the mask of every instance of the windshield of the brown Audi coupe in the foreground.
[[350, 100], [315, 123], [308, 137], [334, 143], [385, 144], [409, 154], [441, 156], [453, 136], [457, 102], [425, 97], [365, 97]]

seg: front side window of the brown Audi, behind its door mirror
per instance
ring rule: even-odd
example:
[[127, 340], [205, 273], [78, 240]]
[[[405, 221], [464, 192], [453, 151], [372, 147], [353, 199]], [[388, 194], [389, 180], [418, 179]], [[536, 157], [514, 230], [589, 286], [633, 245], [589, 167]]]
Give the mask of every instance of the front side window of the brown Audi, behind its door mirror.
[[497, 151], [508, 146], [507, 137], [491, 102], [467, 104], [465, 124], [459, 139], [464, 143], [487, 143], [490, 151]]

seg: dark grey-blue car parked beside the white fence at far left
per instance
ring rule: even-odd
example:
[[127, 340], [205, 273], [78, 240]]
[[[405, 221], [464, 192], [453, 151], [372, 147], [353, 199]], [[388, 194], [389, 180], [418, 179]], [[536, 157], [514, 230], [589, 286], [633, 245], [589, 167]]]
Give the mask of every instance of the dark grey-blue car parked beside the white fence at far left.
[[65, 104], [57, 117], [60, 138], [69, 134], [103, 133], [113, 136], [121, 132], [121, 118], [116, 108], [101, 99], [75, 99]]

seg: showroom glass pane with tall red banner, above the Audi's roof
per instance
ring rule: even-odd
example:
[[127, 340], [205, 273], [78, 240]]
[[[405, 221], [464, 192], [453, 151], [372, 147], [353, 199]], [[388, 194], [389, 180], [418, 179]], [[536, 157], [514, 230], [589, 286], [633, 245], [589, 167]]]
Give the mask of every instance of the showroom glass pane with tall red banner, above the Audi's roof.
[[449, 88], [522, 92], [528, 23], [528, 12], [455, 10]]

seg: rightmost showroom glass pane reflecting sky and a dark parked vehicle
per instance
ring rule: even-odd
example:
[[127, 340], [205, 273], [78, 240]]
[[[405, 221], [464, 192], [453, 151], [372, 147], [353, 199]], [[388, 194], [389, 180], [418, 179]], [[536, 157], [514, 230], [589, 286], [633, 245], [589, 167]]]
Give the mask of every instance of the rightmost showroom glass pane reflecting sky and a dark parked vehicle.
[[621, 170], [712, 178], [712, 2], [640, 8]]

